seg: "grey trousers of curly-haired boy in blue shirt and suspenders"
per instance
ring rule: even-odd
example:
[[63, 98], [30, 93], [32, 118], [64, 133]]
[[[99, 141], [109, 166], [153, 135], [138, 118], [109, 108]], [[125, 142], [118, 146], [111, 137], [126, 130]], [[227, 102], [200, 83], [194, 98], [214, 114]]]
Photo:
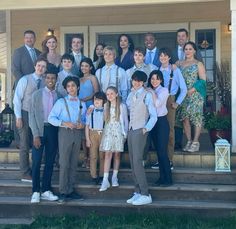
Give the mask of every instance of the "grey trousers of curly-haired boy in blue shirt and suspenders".
[[58, 131], [59, 146], [59, 192], [70, 194], [75, 186], [76, 170], [82, 139], [82, 130], [60, 127]]

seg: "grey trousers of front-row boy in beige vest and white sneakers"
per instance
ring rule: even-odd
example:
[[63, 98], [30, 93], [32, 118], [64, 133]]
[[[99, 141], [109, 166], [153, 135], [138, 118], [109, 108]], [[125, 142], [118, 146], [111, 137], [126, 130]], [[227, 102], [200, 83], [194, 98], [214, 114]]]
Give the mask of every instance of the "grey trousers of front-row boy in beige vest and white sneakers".
[[142, 129], [131, 129], [128, 132], [129, 158], [135, 185], [135, 192], [142, 195], [149, 194], [147, 178], [143, 167], [143, 153], [147, 135], [148, 133], [143, 134]]

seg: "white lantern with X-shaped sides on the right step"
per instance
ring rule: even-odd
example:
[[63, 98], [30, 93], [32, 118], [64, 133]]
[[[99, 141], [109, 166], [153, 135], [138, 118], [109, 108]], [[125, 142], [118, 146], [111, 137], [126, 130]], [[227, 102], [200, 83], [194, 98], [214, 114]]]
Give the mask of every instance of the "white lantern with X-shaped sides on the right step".
[[230, 144], [226, 139], [218, 139], [215, 143], [215, 171], [231, 172]]

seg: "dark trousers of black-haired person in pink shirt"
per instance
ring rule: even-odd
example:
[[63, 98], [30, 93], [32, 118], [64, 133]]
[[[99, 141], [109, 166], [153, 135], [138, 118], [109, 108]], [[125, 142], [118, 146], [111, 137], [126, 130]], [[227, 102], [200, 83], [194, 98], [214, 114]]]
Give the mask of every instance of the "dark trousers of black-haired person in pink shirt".
[[172, 183], [170, 161], [167, 154], [169, 141], [169, 123], [166, 116], [158, 117], [157, 122], [151, 130], [152, 139], [157, 150], [160, 171], [160, 183]]

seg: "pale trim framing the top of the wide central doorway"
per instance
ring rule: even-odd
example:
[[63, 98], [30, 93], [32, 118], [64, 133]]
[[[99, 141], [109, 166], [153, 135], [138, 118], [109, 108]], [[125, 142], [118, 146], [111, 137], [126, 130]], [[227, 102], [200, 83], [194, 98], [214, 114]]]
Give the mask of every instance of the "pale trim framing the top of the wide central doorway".
[[[117, 33], [145, 33], [145, 32], [172, 32], [179, 28], [188, 30], [188, 23], [161, 23], [161, 24], [136, 24], [136, 25], [104, 25], [90, 26], [90, 47], [95, 47], [97, 34], [117, 34]], [[93, 49], [90, 49], [90, 56], [93, 56]]]

